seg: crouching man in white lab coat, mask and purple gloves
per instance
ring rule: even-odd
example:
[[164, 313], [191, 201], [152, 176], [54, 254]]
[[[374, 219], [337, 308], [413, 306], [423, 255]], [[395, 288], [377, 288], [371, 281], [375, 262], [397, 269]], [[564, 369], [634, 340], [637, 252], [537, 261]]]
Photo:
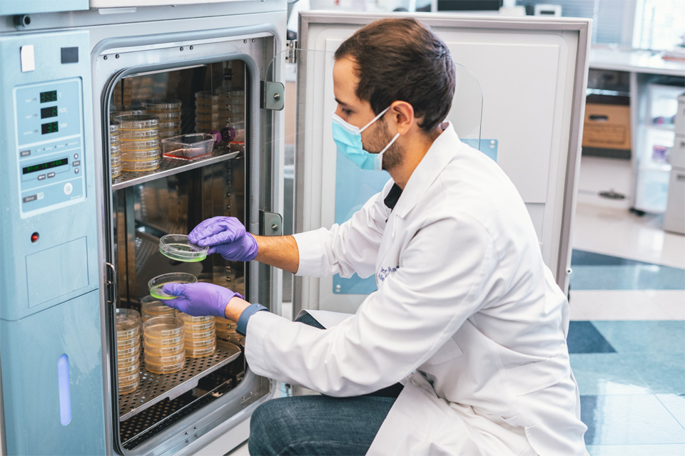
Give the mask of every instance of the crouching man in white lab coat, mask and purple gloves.
[[582, 455], [568, 303], [512, 182], [442, 122], [445, 43], [414, 19], [377, 21], [338, 48], [333, 82], [338, 150], [382, 165], [382, 192], [330, 229], [255, 237], [214, 217], [190, 237], [301, 275], [375, 273], [377, 291], [322, 330], [220, 286], [164, 287], [178, 309], [238, 321], [255, 373], [322, 393], [260, 405], [250, 452]]

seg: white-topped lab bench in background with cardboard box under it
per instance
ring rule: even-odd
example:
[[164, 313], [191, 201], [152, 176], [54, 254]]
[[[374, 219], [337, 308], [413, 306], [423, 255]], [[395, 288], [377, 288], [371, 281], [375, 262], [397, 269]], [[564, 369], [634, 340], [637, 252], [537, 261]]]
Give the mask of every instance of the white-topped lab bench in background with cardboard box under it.
[[[615, 145], [584, 147], [583, 155], [630, 160], [629, 203], [630, 209], [638, 214], [666, 210], [671, 178], [667, 154], [676, 136], [677, 97], [684, 92], [683, 61], [666, 61], [650, 51], [624, 51], [609, 46], [597, 46], [590, 51], [587, 106], [594, 108], [598, 102], [613, 105], [609, 112], [619, 118], [621, 109], [629, 111], [629, 125], [626, 120], [604, 125], [604, 131], [614, 136]], [[598, 118], [607, 120], [595, 114]], [[586, 116], [588, 134], [597, 133], [588, 122]], [[621, 141], [621, 132], [629, 138]]]

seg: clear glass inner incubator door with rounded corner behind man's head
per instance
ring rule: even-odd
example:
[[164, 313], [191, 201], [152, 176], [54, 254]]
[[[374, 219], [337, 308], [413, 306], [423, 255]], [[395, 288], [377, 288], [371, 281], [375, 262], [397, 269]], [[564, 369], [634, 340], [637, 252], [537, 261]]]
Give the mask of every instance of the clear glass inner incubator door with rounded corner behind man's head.
[[[337, 39], [327, 42], [326, 51], [290, 48], [276, 56], [267, 71], [265, 103], [274, 106], [263, 111], [263, 125], [273, 125], [273, 130], [265, 129], [263, 150], [283, 147], [283, 153], [273, 153], [285, 157], [284, 234], [342, 224], [390, 180], [385, 170], [361, 170], [333, 141], [332, 116], [338, 105], [333, 94], [333, 64], [340, 43]], [[455, 64], [455, 76], [452, 109], [445, 120], [454, 125], [463, 142], [494, 159], [497, 148], [480, 142], [480, 84], [459, 63]], [[274, 99], [278, 83], [283, 84], [283, 95], [278, 93]], [[280, 100], [282, 105], [277, 103]], [[288, 302], [293, 279], [284, 274], [283, 301]], [[362, 279], [357, 274], [296, 280], [302, 280], [302, 286], [297, 286], [293, 316], [302, 308], [354, 312], [376, 289], [373, 276]]]

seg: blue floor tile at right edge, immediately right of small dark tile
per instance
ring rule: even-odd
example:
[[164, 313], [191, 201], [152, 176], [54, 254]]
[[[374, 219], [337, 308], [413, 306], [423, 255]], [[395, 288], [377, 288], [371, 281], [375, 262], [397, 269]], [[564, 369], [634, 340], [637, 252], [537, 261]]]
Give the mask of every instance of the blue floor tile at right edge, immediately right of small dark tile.
[[685, 321], [593, 321], [618, 353], [685, 353]]

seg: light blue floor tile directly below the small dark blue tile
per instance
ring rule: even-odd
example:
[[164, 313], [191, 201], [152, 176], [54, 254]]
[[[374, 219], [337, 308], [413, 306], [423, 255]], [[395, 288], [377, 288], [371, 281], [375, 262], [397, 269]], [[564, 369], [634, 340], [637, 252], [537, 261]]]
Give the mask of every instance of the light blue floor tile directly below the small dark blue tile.
[[619, 353], [572, 354], [571, 368], [582, 395], [652, 392], [634, 368], [629, 356]]

